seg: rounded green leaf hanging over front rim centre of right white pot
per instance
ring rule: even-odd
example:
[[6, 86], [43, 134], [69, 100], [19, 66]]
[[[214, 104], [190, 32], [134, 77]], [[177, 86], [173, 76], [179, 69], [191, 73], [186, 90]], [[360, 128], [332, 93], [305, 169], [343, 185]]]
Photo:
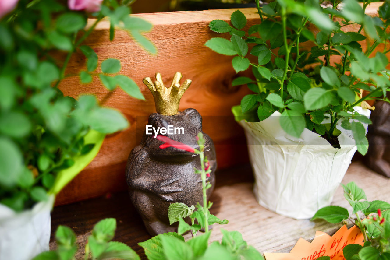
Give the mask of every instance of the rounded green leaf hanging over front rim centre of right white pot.
[[280, 117], [280, 126], [283, 130], [294, 137], [299, 138], [306, 126], [305, 117], [294, 110], [284, 110]]

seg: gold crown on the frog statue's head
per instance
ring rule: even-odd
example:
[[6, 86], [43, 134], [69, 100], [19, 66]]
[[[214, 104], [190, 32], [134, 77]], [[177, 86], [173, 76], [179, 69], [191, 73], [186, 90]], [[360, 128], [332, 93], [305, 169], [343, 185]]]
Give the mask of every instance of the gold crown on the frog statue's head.
[[191, 80], [185, 80], [184, 83], [180, 85], [179, 81], [182, 77], [183, 75], [180, 72], [177, 72], [169, 88], [164, 86], [163, 78], [158, 72], [156, 72], [156, 81], [154, 81], [154, 84], [149, 77], [142, 80], [152, 92], [157, 113], [160, 113], [161, 115], [177, 114], [180, 99], [192, 82]]

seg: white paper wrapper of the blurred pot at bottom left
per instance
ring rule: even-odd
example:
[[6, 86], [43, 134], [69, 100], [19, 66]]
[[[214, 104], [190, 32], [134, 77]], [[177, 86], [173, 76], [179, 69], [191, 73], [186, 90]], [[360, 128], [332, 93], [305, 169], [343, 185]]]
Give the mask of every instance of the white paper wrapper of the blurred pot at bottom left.
[[0, 260], [31, 260], [49, 250], [54, 195], [30, 210], [14, 212], [0, 204]]

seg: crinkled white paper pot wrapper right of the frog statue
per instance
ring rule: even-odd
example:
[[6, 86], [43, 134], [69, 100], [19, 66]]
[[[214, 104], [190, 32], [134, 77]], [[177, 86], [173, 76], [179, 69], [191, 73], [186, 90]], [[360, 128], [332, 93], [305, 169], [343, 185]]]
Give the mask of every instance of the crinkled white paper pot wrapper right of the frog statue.
[[[356, 110], [368, 117], [371, 113]], [[332, 202], [356, 152], [355, 140], [340, 125], [340, 149], [306, 128], [296, 138], [282, 129], [280, 116], [275, 111], [261, 122], [239, 122], [255, 175], [254, 194], [260, 205], [280, 215], [312, 218]]]

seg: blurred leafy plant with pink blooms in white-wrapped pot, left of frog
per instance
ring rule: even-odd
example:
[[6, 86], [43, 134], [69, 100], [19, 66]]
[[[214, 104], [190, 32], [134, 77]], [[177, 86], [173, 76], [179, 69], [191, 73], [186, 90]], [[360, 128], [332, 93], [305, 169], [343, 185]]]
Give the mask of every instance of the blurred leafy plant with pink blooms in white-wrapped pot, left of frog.
[[[144, 99], [133, 80], [118, 74], [119, 60], [104, 60], [97, 72], [97, 54], [82, 43], [108, 16], [110, 39], [119, 26], [151, 53], [156, 49], [141, 34], [151, 24], [131, 18], [126, 3], [20, 0], [0, 7], [0, 258], [27, 260], [48, 249], [55, 195], [92, 161], [105, 134], [129, 125], [92, 95], [62, 94], [71, 55], [87, 59], [83, 83], [99, 77], [109, 90], [119, 85]], [[86, 27], [89, 16], [95, 20]]]

